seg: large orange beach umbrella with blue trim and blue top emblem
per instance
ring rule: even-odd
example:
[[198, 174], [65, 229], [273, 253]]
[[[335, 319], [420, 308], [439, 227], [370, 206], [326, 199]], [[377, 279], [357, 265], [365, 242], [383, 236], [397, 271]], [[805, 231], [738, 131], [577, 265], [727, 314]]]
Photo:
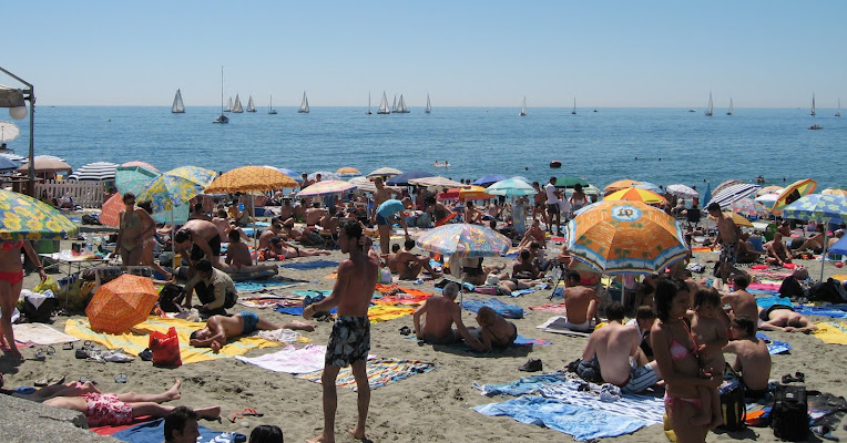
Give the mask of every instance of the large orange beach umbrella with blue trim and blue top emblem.
[[568, 223], [567, 247], [605, 274], [653, 274], [685, 257], [673, 217], [642, 202], [603, 200]]

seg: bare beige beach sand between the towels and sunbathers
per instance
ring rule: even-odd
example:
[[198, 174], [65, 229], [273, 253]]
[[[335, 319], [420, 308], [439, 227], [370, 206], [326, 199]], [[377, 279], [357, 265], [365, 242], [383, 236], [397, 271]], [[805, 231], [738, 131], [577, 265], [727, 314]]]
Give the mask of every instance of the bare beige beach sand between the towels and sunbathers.
[[[557, 245], [550, 245], [557, 247]], [[340, 251], [334, 251], [329, 257], [297, 259], [309, 261], [315, 259], [341, 260]], [[696, 260], [705, 264], [714, 260], [715, 254], [698, 254]], [[487, 259], [487, 262], [509, 262], [511, 259]], [[802, 260], [809, 268], [812, 276], [817, 276], [819, 262]], [[294, 271], [282, 269], [286, 277], [304, 279], [310, 284], [293, 289], [331, 289], [335, 280], [325, 279], [333, 269], [316, 269], [310, 271]], [[836, 269], [831, 264], [826, 265], [826, 275]], [[702, 275], [695, 275], [702, 276]], [[24, 288], [32, 288], [38, 280], [37, 275], [25, 279]], [[432, 290], [431, 282], [411, 286], [416, 289]], [[538, 291], [528, 296], [506, 299], [510, 303], [522, 307], [541, 305], [548, 301], [550, 290]], [[487, 298], [474, 295], [471, 297]], [[237, 306], [235, 309], [242, 309]], [[271, 310], [256, 310], [261, 316], [273, 321], [297, 319], [293, 316], [277, 313]], [[557, 370], [568, 362], [579, 358], [586, 343], [585, 338], [564, 337], [544, 333], [535, 326], [552, 317], [553, 313], [533, 312], [523, 319], [514, 320], [518, 331], [525, 337], [552, 340], [544, 347], [512, 348], [502, 353], [473, 356], [453, 349], [419, 347], [415, 340], [404, 339], [399, 329], [412, 327], [411, 316], [391, 321], [373, 324], [371, 353], [379, 357], [398, 359], [427, 360], [438, 364], [438, 369], [428, 373], [417, 374], [406, 380], [379, 388], [371, 392], [370, 413], [367, 421], [367, 433], [377, 442], [538, 442], [538, 441], [572, 441], [569, 435], [535, 426], [519, 423], [509, 418], [489, 418], [472, 411], [470, 408], [503, 401], [506, 398], [484, 398], [471, 388], [471, 383], [504, 383], [518, 380], [525, 372], [518, 371], [528, 358], [543, 361], [544, 370]], [[80, 318], [74, 316], [72, 318]], [[65, 318], [54, 319], [53, 327], [62, 330]], [[465, 311], [466, 324], [474, 324], [473, 315]], [[317, 322], [314, 332], [304, 336], [315, 343], [326, 344], [331, 323]], [[846, 394], [843, 380], [847, 371], [843, 363], [847, 361], [847, 347], [824, 344], [818, 339], [802, 333], [767, 332], [775, 340], [789, 342], [794, 350], [789, 354], [774, 356], [772, 380], [786, 373], [802, 371], [806, 373], [806, 385], [836, 395]], [[45, 361], [32, 360], [34, 348], [22, 350], [28, 358], [20, 365], [12, 365], [8, 359], [0, 359], [0, 371], [7, 374], [7, 387], [32, 385], [44, 374], [65, 375], [68, 380], [90, 377], [99, 382], [103, 391], [111, 392], [160, 392], [173, 383], [173, 378], [183, 380], [182, 399], [172, 402], [174, 405], [207, 406], [221, 405], [224, 416], [254, 408], [264, 413], [262, 418], [247, 418], [231, 423], [224, 418], [222, 423], [205, 421], [203, 425], [220, 431], [236, 431], [249, 434], [253, 426], [258, 424], [276, 424], [283, 427], [286, 441], [302, 442], [313, 437], [323, 427], [322, 388], [319, 384], [296, 380], [293, 375], [274, 373], [252, 364], [245, 364], [235, 359], [222, 359], [195, 364], [186, 364], [176, 369], [154, 368], [150, 362], [136, 360], [131, 363], [93, 363], [76, 360], [73, 351], [61, 350]], [[251, 351], [248, 357], [256, 357], [280, 348]], [[114, 382], [114, 375], [125, 373], [126, 384]], [[338, 413], [336, 431], [339, 441], [353, 441], [346, 431], [351, 429], [356, 420], [356, 393], [346, 388], [338, 389]], [[244, 427], [246, 425], [246, 427]], [[835, 433], [847, 439], [847, 431]], [[756, 440], [758, 442], [776, 441], [769, 427], [749, 427], [739, 433], [710, 433], [707, 441]], [[649, 426], [632, 435], [619, 437], [624, 442], [662, 442], [666, 441], [659, 425]]]

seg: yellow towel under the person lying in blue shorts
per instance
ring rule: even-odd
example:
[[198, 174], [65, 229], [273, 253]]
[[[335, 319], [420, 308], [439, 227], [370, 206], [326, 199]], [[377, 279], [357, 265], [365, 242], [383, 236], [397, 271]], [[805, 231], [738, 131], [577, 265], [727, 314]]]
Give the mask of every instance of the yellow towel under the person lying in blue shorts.
[[159, 331], [166, 333], [169, 328], [174, 327], [180, 337], [180, 358], [182, 359], [183, 364], [241, 356], [251, 349], [280, 346], [280, 343], [263, 340], [258, 337], [242, 337], [236, 341], [229, 341], [221, 348], [220, 353], [212, 352], [212, 349], [210, 348], [194, 348], [190, 346], [188, 336], [191, 336], [193, 331], [204, 328], [205, 326], [204, 322], [150, 316], [146, 321], [132, 327], [130, 332], [121, 334], [94, 332], [89, 328], [88, 320], [65, 321], [64, 332], [81, 340], [91, 340], [109, 349], [123, 348], [124, 352], [137, 357], [139, 353], [147, 348], [150, 343], [150, 332]]

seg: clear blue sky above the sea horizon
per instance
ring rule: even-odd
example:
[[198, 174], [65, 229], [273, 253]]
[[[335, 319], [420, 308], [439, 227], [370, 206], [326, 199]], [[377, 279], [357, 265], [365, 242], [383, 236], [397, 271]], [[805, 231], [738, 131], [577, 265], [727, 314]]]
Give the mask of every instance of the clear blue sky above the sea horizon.
[[[8, 1], [41, 105], [847, 105], [844, 1]], [[17, 17], [18, 19], [13, 19]], [[16, 85], [0, 75], [0, 83]]]

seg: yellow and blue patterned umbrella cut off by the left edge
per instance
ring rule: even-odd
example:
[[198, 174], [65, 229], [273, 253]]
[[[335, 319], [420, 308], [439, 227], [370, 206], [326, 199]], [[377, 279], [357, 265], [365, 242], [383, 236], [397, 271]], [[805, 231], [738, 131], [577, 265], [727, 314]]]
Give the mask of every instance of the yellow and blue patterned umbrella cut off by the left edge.
[[79, 227], [59, 209], [30, 196], [0, 189], [1, 240], [59, 240]]

